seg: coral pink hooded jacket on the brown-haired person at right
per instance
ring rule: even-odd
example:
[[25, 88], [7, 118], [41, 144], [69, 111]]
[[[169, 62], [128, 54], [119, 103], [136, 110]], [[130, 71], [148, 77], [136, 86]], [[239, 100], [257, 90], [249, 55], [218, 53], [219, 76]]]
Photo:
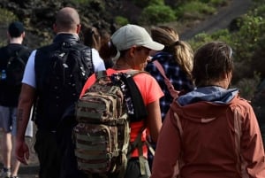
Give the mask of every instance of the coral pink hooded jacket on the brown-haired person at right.
[[[178, 113], [178, 114], [177, 114]], [[155, 150], [151, 178], [264, 178], [261, 132], [246, 100], [170, 106]]]

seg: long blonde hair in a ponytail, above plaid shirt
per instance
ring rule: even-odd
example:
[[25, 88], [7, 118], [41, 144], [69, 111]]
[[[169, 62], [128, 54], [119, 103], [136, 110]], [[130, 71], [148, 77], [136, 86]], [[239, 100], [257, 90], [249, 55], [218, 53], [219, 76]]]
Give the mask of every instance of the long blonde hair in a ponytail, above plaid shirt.
[[171, 27], [152, 27], [151, 36], [155, 42], [165, 46], [163, 51], [173, 55], [181, 69], [192, 78], [193, 49], [191, 46], [186, 42], [179, 41], [178, 33]]

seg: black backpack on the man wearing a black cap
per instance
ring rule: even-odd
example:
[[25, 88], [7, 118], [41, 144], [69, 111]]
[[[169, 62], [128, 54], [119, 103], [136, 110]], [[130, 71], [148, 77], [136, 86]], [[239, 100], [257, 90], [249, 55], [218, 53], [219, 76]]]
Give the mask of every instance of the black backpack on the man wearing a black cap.
[[[5, 80], [8, 85], [18, 86], [21, 84], [25, 66], [26, 66], [26, 62], [21, 57], [27, 51], [28, 51], [27, 48], [22, 48], [19, 51], [9, 52], [12, 54], [7, 61], [6, 70], [5, 70], [5, 74], [6, 74]], [[3, 74], [3, 71], [2, 71], [2, 74]]]

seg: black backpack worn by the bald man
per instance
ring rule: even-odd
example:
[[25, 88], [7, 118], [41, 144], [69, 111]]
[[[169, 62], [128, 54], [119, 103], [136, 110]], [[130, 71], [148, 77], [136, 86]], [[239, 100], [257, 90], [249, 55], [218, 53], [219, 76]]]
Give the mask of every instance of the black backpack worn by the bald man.
[[49, 118], [55, 126], [62, 118], [74, 115], [68, 108], [94, 73], [92, 51], [80, 43], [53, 43], [36, 51], [34, 67], [38, 95], [35, 119], [50, 127]]

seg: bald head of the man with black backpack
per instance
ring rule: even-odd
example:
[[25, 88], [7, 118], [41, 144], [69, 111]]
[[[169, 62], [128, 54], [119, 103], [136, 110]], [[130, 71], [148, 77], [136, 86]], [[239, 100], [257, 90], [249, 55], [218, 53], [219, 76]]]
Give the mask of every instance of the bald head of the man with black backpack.
[[79, 13], [72, 7], [64, 7], [57, 12], [57, 32], [76, 32], [79, 24]]

